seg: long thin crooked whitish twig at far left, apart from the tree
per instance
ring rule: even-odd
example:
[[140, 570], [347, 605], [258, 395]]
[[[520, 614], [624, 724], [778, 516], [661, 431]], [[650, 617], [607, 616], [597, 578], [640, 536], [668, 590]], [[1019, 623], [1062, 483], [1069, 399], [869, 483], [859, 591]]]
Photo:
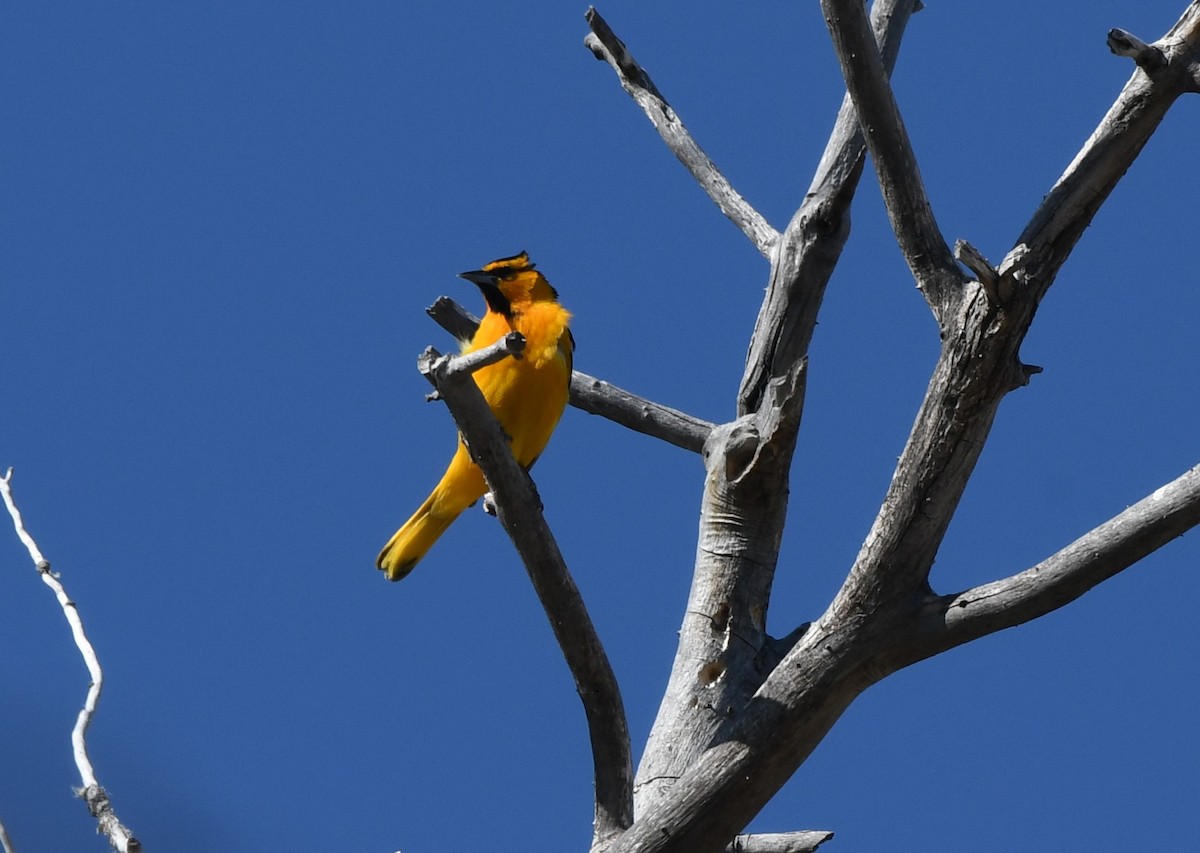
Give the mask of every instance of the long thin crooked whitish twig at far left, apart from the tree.
[[104, 674], [100, 668], [100, 659], [96, 656], [96, 649], [92, 648], [91, 641], [88, 639], [88, 635], [83, 627], [83, 619], [79, 617], [79, 609], [76, 607], [74, 601], [67, 595], [58, 573], [50, 571], [49, 560], [46, 559], [41, 548], [37, 547], [37, 542], [25, 529], [20, 510], [17, 509], [17, 504], [12, 497], [12, 468], [7, 470], [4, 477], [0, 477], [0, 492], [4, 493], [4, 501], [8, 507], [8, 515], [12, 516], [17, 536], [29, 551], [29, 555], [34, 560], [38, 575], [42, 576], [42, 581], [54, 590], [54, 596], [59, 600], [59, 606], [62, 608], [62, 613], [71, 625], [71, 633], [91, 677], [91, 684], [88, 686], [88, 697], [71, 732], [71, 745], [74, 752], [76, 767], [79, 769], [80, 780], [83, 780], [83, 787], [77, 793], [88, 804], [88, 809], [98, 823], [100, 831], [108, 837], [113, 849], [119, 851], [119, 853], [137, 853], [142, 849], [142, 842], [133, 837], [133, 834], [116, 818], [113, 805], [108, 799], [108, 793], [96, 781], [96, 771], [91, 765], [91, 759], [88, 757], [88, 727], [96, 714], [96, 707], [100, 704], [100, 695], [104, 686]]

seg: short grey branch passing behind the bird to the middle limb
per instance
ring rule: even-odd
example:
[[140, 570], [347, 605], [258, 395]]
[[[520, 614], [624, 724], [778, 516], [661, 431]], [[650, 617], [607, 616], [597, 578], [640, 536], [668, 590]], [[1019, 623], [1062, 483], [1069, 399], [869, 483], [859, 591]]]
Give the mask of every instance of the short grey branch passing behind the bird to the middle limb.
[[[460, 341], [469, 341], [479, 326], [479, 318], [449, 296], [438, 296], [425, 311]], [[571, 374], [571, 406], [694, 453], [703, 450], [714, 428], [709, 421], [638, 397], [581, 371]]]

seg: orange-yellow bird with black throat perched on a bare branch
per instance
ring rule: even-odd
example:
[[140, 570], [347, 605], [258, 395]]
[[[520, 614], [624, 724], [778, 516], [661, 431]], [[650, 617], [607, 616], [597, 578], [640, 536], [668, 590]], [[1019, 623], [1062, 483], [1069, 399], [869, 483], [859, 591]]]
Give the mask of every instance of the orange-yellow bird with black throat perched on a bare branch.
[[[528, 252], [458, 274], [484, 294], [487, 312], [462, 353], [487, 347], [511, 331], [526, 338], [520, 359], [506, 358], [474, 373], [475, 384], [509, 437], [512, 456], [528, 469], [546, 449], [566, 408], [575, 356], [571, 314], [558, 292], [534, 269]], [[458, 435], [450, 465], [416, 512], [379, 552], [376, 566], [400, 581], [463, 510], [487, 492], [479, 465]]]

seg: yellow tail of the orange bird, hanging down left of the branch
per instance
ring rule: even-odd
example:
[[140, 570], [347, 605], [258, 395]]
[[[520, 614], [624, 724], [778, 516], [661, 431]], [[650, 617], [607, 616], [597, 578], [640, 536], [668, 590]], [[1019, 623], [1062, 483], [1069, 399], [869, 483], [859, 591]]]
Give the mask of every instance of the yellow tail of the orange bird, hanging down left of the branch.
[[388, 545], [383, 546], [376, 565], [388, 573], [389, 581], [398, 581], [408, 575], [454, 519], [484, 497], [485, 491], [487, 486], [482, 471], [470, 461], [470, 455], [460, 441], [442, 482], [413, 517], [388, 540]]

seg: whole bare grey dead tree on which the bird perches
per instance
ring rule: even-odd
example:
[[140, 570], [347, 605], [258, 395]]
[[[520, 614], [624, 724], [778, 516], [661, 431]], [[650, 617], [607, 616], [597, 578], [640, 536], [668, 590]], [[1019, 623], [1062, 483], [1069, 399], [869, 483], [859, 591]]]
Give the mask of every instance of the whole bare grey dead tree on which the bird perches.
[[[970, 244], [952, 250], [943, 238], [892, 96], [890, 68], [919, 0], [876, 0], [870, 19], [862, 0], [822, 0], [822, 8], [848, 94], [812, 185], [781, 232], [721, 175], [604, 19], [594, 10], [587, 16], [587, 46], [770, 262], [736, 420], [712, 425], [592, 377], [576, 373], [572, 380], [575, 406], [700, 452], [707, 470], [679, 647], [636, 776], [616, 679], [532, 483], [468, 380], [478, 362], [422, 359], [487, 475], [575, 675], [595, 758], [593, 851], [814, 849], [830, 833], [738, 833], [869, 685], [1049, 613], [1200, 523], [1198, 467], [1025, 571], [949, 594], [929, 582], [1001, 401], [1039, 371], [1020, 360], [1038, 304], [1170, 106], [1200, 91], [1200, 1], [1157, 42], [1109, 34], [1112, 52], [1134, 61], [1133, 77], [996, 266]], [[941, 354], [841, 589], [818, 619], [776, 638], [767, 635], [766, 615], [806, 353], [848, 235], [847, 211], [866, 154], [937, 322]], [[460, 335], [473, 322], [444, 301], [431, 313]], [[520, 346], [502, 342], [475, 358], [508, 358]]]

